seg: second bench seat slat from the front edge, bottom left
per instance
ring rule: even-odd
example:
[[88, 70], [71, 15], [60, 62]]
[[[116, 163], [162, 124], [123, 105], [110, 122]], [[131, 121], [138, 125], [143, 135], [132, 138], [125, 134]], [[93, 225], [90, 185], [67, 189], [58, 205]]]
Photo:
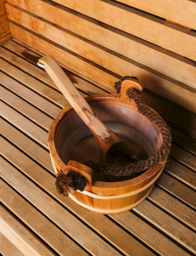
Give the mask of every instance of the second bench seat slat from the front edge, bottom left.
[[73, 254], [88, 255], [13, 189], [3, 181], [0, 181], [0, 184], [2, 203], [25, 223], [25, 225], [33, 230], [37, 236], [41, 237], [47, 245], [53, 248], [55, 252], [67, 256], [72, 256]]

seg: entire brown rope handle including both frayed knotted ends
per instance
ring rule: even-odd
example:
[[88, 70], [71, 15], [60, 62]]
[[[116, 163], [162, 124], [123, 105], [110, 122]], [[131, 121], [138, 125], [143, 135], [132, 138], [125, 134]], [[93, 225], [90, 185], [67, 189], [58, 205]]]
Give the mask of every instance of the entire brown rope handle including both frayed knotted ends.
[[[126, 78], [134, 78], [133, 76], [125, 76], [119, 82], [116, 82], [114, 88], [117, 93], [120, 93], [121, 84], [123, 80]], [[169, 126], [165, 123], [165, 121], [155, 113], [149, 106], [147, 106], [138, 91], [133, 88], [127, 89], [127, 96], [130, 99], [133, 99], [137, 105], [138, 111], [142, 113], [145, 117], [147, 117], [153, 124], [155, 124], [161, 135], [162, 135], [162, 145], [160, 149], [150, 156], [147, 160], [142, 160], [134, 163], [129, 163], [128, 165], [108, 165], [102, 163], [96, 163], [94, 161], [85, 161], [83, 164], [91, 167], [94, 172], [101, 173], [103, 175], [111, 175], [111, 176], [129, 176], [133, 173], [140, 173], [143, 171], [147, 171], [154, 167], [155, 165], [162, 164], [165, 162], [170, 149], [171, 149], [171, 132]], [[74, 172], [69, 172], [67, 174], [61, 172], [56, 177], [56, 187], [57, 192], [62, 195], [67, 195], [70, 192], [70, 187], [76, 190], [83, 191], [87, 183], [87, 179], [82, 175]]]

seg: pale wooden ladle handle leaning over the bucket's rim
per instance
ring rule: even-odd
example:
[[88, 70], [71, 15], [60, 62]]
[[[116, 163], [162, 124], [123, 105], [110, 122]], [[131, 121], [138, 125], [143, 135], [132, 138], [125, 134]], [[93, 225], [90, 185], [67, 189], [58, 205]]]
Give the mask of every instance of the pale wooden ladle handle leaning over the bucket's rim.
[[44, 56], [39, 59], [39, 63], [44, 65], [42, 67], [52, 78], [76, 113], [78, 113], [81, 119], [90, 128], [96, 139], [102, 141], [104, 139], [102, 138], [102, 134], [107, 134], [107, 127], [102, 123], [102, 121], [100, 121], [100, 119], [98, 119], [93, 109], [69, 80], [68, 76], [58, 65], [53, 56]]

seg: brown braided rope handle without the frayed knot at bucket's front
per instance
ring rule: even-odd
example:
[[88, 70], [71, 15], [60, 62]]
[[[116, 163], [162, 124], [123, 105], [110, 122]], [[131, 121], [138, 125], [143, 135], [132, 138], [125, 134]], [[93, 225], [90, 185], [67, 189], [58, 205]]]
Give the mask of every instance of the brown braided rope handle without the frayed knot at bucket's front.
[[[132, 76], [123, 77], [119, 82], [116, 82], [114, 86], [118, 93], [120, 93], [121, 84], [126, 78], [134, 78], [138, 80], [136, 77]], [[145, 104], [142, 96], [138, 91], [133, 88], [129, 88], [127, 89], [126, 94], [129, 98], [134, 100], [137, 105], [138, 111], [158, 127], [162, 135], [162, 145], [158, 152], [154, 153], [147, 160], [130, 163], [128, 165], [107, 165], [95, 163], [93, 161], [85, 161], [84, 164], [91, 167], [94, 172], [112, 176], [128, 176], [133, 173], [140, 173], [142, 171], [146, 171], [147, 169], [150, 169], [159, 163], [164, 163], [169, 154], [172, 142], [169, 126], [167, 126], [167, 124], [162, 119], [162, 117], [160, 117], [160, 115], [155, 113], [149, 106]]]

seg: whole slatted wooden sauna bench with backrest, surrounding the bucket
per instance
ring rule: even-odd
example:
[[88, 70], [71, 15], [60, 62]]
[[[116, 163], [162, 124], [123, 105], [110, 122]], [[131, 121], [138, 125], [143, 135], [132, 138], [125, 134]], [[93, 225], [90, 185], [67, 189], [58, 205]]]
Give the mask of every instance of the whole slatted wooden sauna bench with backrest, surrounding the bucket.
[[[13, 38], [0, 47], [0, 253], [195, 255], [195, 3], [8, 2]], [[83, 96], [115, 93], [114, 82], [137, 76], [143, 98], [171, 127], [165, 169], [132, 210], [94, 214], [56, 193], [47, 132], [68, 103], [36, 64], [45, 54]]]

